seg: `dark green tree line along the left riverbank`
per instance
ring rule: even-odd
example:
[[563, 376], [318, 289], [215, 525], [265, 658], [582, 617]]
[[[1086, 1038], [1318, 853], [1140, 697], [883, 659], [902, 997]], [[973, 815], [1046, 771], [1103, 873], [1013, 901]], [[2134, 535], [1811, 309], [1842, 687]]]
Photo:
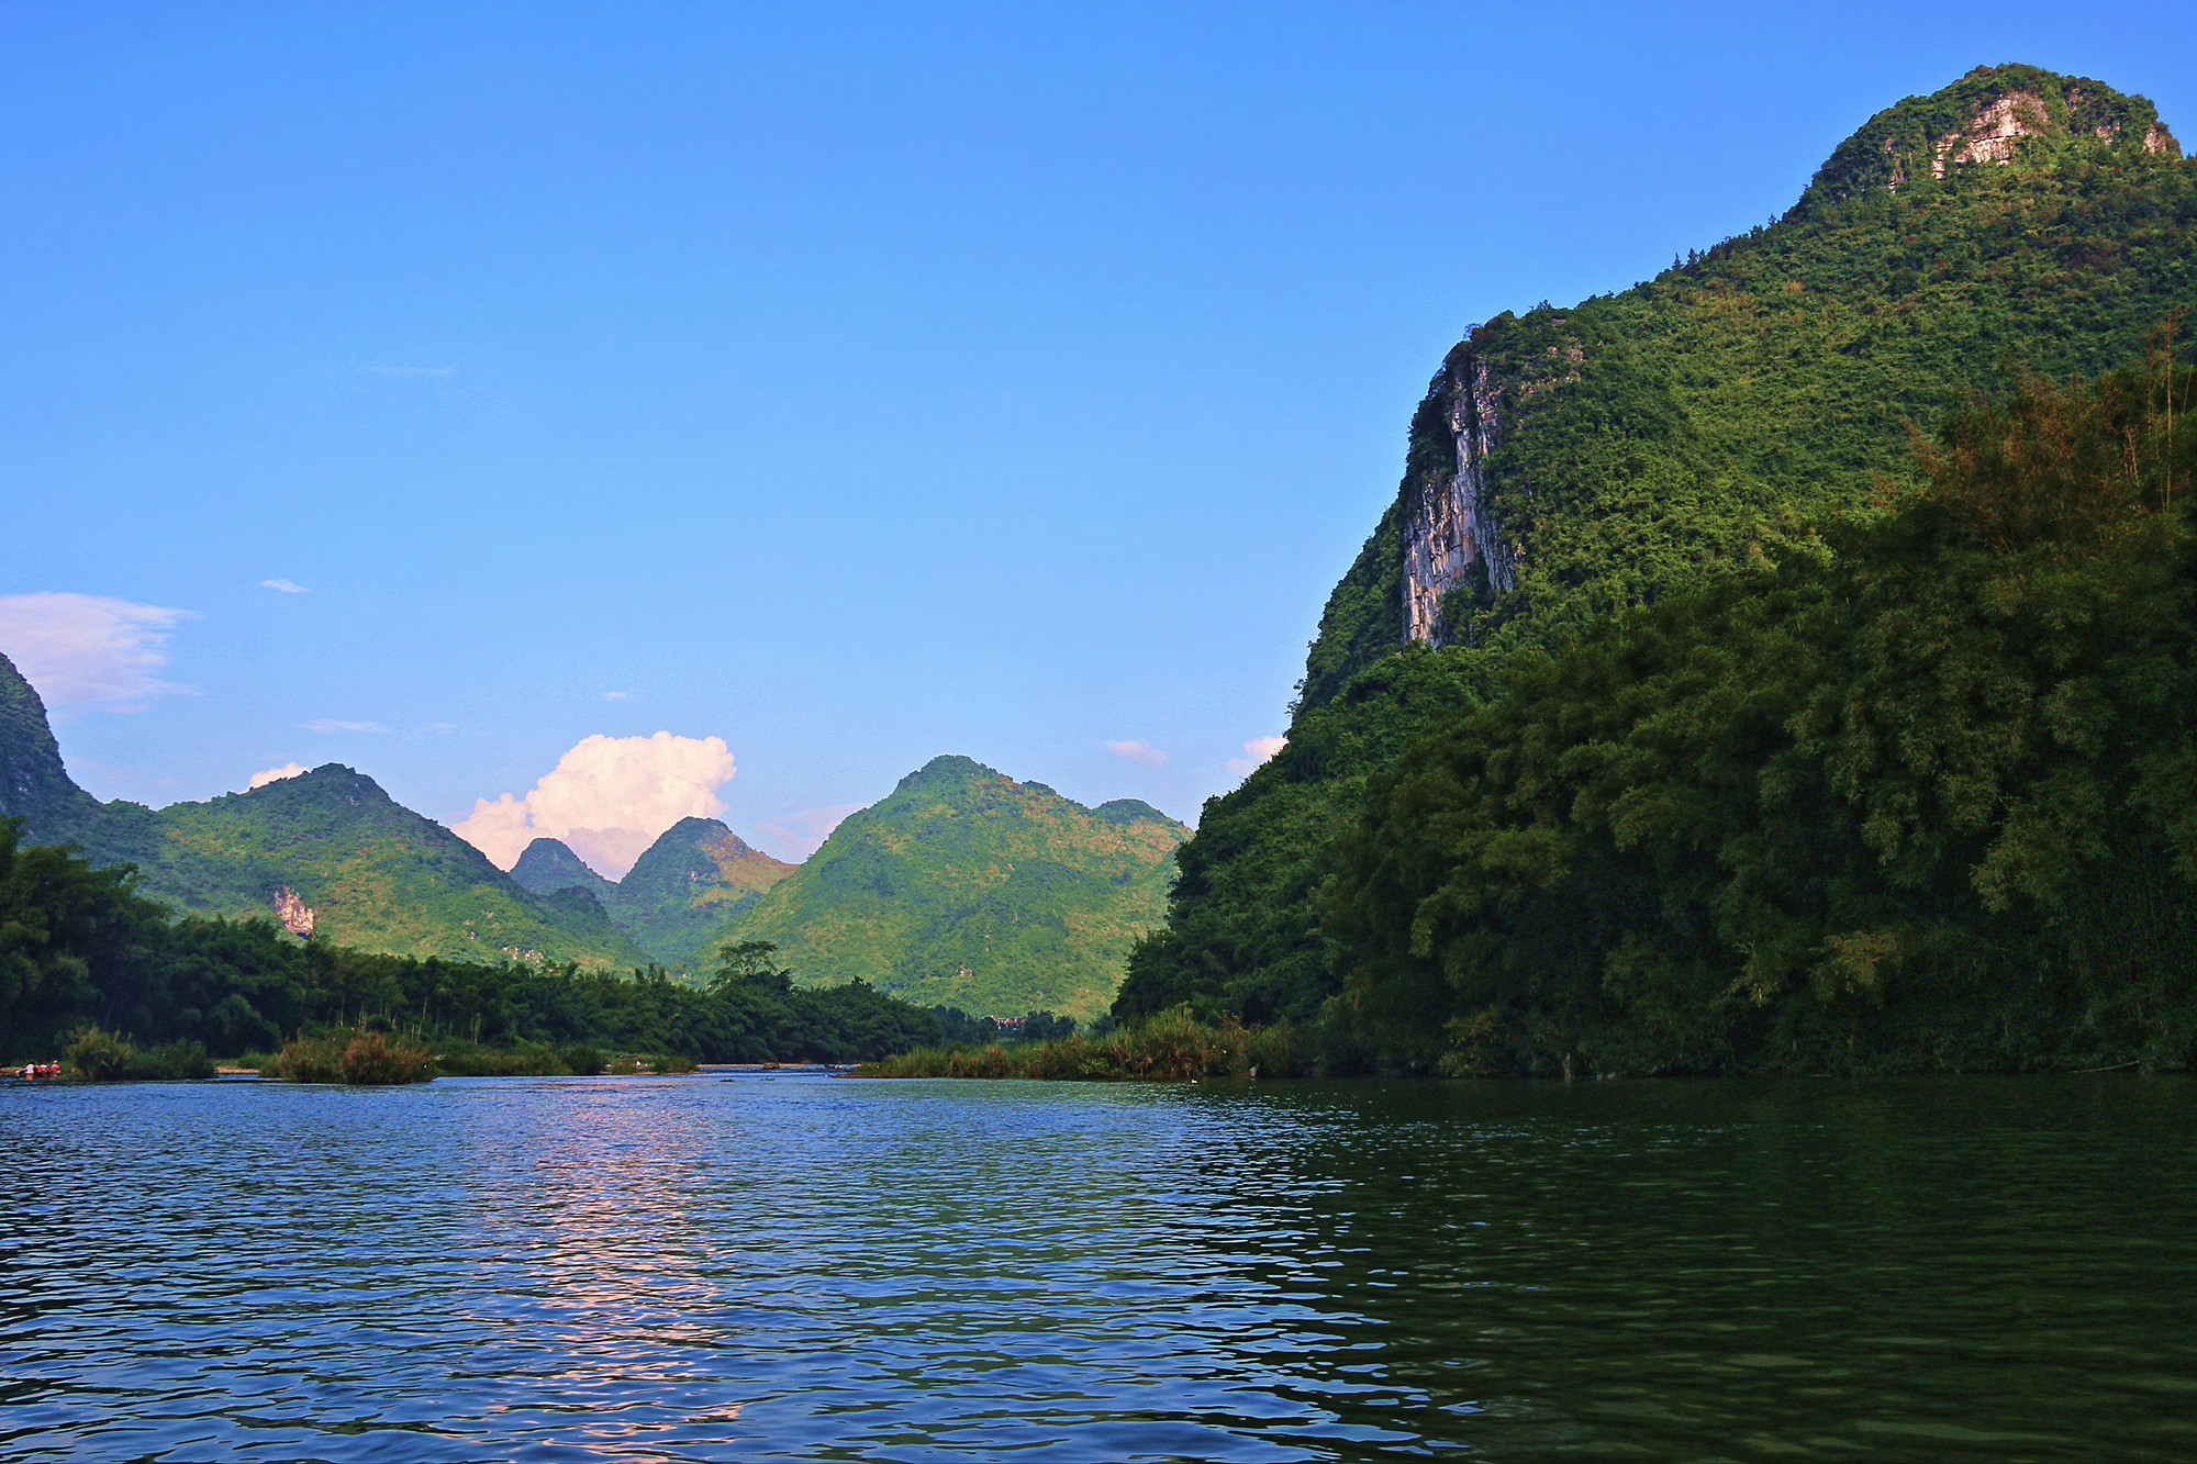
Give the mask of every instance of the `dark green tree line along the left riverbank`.
[[[22, 846], [0, 820], [0, 1057], [99, 1027], [218, 1053], [299, 1031], [391, 1029], [470, 1046], [600, 1044], [703, 1062], [850, 1062], [938, 1042], [932, 1013], [863, 983], [793, 989], [769, 945], [732, 952], [710, 989], [661, 967], [389, 956], [299, 941], [270, 921], [174, 917], [125, 868]], [[758, 956], [760, 952], [760, 956]]]

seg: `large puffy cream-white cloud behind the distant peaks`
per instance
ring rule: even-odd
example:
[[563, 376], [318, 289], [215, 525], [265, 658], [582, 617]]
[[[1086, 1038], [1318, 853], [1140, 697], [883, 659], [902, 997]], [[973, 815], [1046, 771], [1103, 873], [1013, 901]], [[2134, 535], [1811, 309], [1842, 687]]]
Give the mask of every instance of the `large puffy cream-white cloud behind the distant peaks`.
[[540, 838], [565, 840], [598, 873], [620, 879], [681, 818], [716, 818], [732, 780], [721, 736], [584, 736], [525, 798], [479, 798], [455, 833], [497, 868], [518, 864]]

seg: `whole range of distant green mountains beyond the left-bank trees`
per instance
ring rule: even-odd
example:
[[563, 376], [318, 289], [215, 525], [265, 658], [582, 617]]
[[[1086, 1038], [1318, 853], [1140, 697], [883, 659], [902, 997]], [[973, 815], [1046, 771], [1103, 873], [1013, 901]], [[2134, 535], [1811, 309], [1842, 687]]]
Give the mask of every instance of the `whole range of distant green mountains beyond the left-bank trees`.
[[967, 1011], [1072, 1016], [1112, 1000], [1189, 838], [1142, 802], [1088, 809], [943, 756], [802, 866], [688, 818], [624, 879], [547, 838], [505, 875], [336, 763], [207, 802], [99, 802], [68, 776], [37, 690], [4, 655], [0, 816], [22, 818], [31, 842], [136, 864], [138, 892], [176, 910], [268, 917], [360, 950], [703, 976], [721, 943], [760, 939], [802, 985], [868, 980]]

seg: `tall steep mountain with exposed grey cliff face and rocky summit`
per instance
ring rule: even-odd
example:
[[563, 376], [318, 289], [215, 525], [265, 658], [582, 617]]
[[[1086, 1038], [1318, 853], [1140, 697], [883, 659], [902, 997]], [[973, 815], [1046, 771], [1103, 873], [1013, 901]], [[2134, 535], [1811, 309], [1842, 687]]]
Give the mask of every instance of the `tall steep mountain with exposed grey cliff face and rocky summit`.
[[1340, 991], [1316, 892], [1369, 778], [1626, 607], [1824, 552], [1916, 479], [1911, 429], [2138, 358], [2197, 297], [2197, 169], [2153, 106], [1977, 68], [1870, 119], [1773, 224], [1571, 308], [1474, 325], [1327, 600], [1287, 747], [1208, 805], [1123, 1018], [1307, 1018]]

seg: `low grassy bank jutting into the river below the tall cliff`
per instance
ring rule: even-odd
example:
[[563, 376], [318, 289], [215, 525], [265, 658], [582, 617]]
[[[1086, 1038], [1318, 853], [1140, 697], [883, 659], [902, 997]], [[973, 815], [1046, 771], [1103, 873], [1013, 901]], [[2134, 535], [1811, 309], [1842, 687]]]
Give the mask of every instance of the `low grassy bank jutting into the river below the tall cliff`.
[[1285, 1077], [1296, 1071], [1287, 1027], [1244, 1027], [1175, 1007], [1103, 1038], [1015, 1046], [927, 1046], [855, 1068], [855, 1077], [1041, 1077], [1059, 1082], [1186, 1082]]

